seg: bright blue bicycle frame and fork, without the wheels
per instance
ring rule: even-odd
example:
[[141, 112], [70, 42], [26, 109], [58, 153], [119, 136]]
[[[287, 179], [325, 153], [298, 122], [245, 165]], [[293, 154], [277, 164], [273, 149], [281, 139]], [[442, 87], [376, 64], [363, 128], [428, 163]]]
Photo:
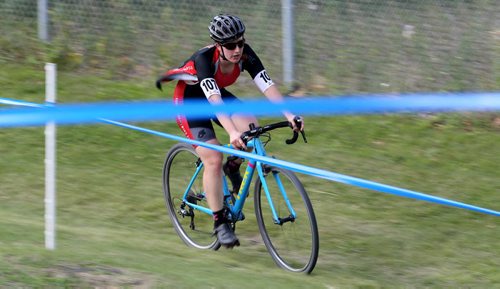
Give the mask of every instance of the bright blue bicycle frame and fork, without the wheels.
[[[226, 145], [226, 146], [232, 147], [231, 145]], [[266, 156], [266, 151], [264, 149], [264, 145], [258, 137], [255, 137], [255, 138], [251, 139], [250, 141], [248, 141], [247, 147], [252, 148], [252, 153], [254, 153], [254, 154], [257, 154], [260, 156]], [[195, 210], [198, 210], [198, 211], [201, 211], [203, 213], [211, 215], [212, 210], [210, 210], [209, 208], [204, 207], [204, 206], [200, 206], [200, 205], [197, 205], [197, 204], [194, 204], [194, 203], [188, 201], [188, 194], [191, 190], [191, 187], [192, 187], [195, 179], [199, 176], [202, 168], [203, 168], [203, 163], [201, 161], [199, 161], [197, 163], [196, 171], [193, 174], [193, 177], [191, 178], [189, 185], [183, 194], [183, 202]], [[264, 191], [266, 193], [266, 198], [268, 200], [268, 203], [270, 205], [270, 209], [272, 211], [274, 223], [281, 225], [283, 222], [282, 222], [282, 219], [278, 216], [276, 209], [275, 209], [275, 206], [274, 206], [274, 203], [272, 201], [272, 197], [271, 197], [268, 185], [267, 185], [267, 181], [266, 181], [266, 178], [264, 177], [266, 172], [264, 171], [263, 164], [259, 161], [255, 161], [255, 160], [248, 160], [248, 165], [246, 166], [245, 174], [243, 175], [243, 180], [241, 182], [241, 186], [240, 186], [240, 189], [238, 191], [238, 194], [235, 197], [234, 203], [232, 203], [232, 201], [231, 201], [231, 192], [228, 189], [226, 178], [223, 178], [223, 186], [222, 187], [223, 187], [223, 191], [224, 191], [224, 202], [231, 213], [232, 221], [233, 222], [241, 221], [244, 218], [242, 211], [243, 211], [243, 207], [245, 205], [245, 201], [247, 199], [247, 196], [249, 194], [250, 184], [252, 182], [252, 179], [253, 179], [253, 176], [255, 173], [255, 169], [257, 169], [257, 173], [258, 173], [258, 176], [260, 178], [262, 187], [264, 188]], [[290, 213], [290, 216], [287, 216], [287, 217], [290, 218], [291, 221], [293, 221], [296, 218], [296, 213], [293, 210], [292, 204], [290, 203], [290, 200], [286, 194], [285, 188], [283, 187], [283, 184], [280, 180], [279, 175], [276, 172], [272, 172], [272, 174], [273, 174], [273, 177], [274, 177], [276, 183], [278, 184], [278, 187], [280, 188], [281, 194], [282, 194], [282, 196], [287, 204], [288, 211]], [[204, 193], [203, 193], [203, 195], [204, 195]]]

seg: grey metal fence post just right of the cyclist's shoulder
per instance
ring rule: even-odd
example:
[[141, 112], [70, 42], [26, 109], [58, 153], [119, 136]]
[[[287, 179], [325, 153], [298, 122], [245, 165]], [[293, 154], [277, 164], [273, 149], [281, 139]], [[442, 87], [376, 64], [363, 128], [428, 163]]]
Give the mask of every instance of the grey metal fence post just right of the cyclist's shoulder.
[[283, 30], [283, 82], [290, 88], [294, 82], [293, 0], [281, 1], [281, 26]]

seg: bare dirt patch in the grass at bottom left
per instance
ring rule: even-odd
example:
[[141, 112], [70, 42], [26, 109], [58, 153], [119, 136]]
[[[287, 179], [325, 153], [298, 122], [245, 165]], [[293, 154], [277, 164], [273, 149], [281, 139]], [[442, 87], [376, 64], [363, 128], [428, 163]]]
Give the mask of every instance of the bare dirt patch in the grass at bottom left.
[[155, 283], [152, 277], [145, 274], [93, 264], [58, 265], [47, 269], [47, 273], [55, 278], [77, 279], [89, 287], [100, 289], [147, 289], [153, 288]]

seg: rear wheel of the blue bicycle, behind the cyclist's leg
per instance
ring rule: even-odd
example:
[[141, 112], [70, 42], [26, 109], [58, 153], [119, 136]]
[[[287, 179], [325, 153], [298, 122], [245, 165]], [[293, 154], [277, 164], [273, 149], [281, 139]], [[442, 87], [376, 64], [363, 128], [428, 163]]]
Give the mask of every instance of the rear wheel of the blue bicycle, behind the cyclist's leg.
[[[213, 217], [198, 211], [182, 200], [199, 164], [199, 157], [191, 145], [180, 143], [167, 153], [163, 166], [163, 192], [168, 215], [179, 237], [190, 247], [217, 249], [220, 244], [213, 236]], [[191, 202], [208, 208], [203, 195], [203, 171], [200, 171], [190, 189]]]

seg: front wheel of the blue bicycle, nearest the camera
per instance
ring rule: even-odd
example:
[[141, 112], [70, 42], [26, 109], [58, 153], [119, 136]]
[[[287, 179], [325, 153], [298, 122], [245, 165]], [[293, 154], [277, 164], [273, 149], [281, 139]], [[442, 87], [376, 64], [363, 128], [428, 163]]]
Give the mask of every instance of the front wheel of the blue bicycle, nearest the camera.
[[291, 272], [309, 274], [316, 266], [319, 253], [318, 226], [311, 201], [293, 172], [279, 167], [267, 167], [266, 171], [268, 173], [265, 174], [265, 181], [278, 216], [288, 217], [289, 210], [273, 175], [277, 175], [281, 180], [297, 217], [294, 221], [276, 224], [270, 207], [263, 209], [263, 206], [269, 206], [269, 202], [262, 181], [257, 178], [254, 207], [264, 244], [279, 267]]

